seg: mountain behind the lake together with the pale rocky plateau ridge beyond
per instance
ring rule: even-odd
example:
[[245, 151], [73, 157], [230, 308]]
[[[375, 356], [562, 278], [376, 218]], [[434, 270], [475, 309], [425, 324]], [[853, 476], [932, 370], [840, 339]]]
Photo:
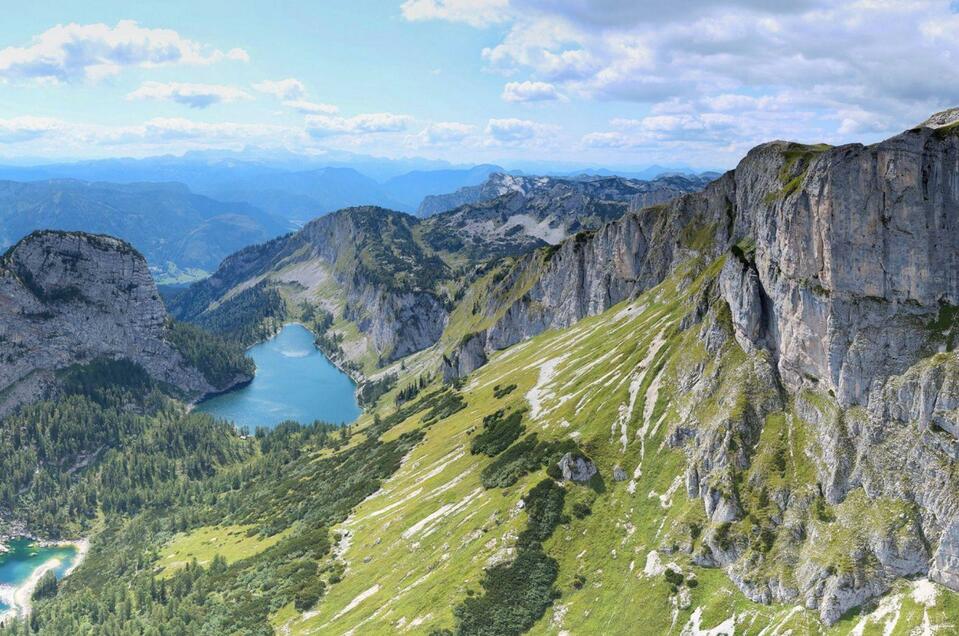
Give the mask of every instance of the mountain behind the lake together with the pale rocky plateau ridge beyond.
[[262, 337], [301, 318], [307, 303], [332, 316], [322, 327], [329, 338], [320, 339], [327, 353], [362, 378], [435, 344], [469, 283], [500, 259], [598, 229], [643, 197], [706, 183], [669, 177], [652, 182], [655, 195], [650, 184], [620, 178], [498, 174], [487, 185], [503, 180], [520, 190], [427, 219], [370, 206], [316, 219], [225, 260], [180, 294], [171, 312], [215, 331]]

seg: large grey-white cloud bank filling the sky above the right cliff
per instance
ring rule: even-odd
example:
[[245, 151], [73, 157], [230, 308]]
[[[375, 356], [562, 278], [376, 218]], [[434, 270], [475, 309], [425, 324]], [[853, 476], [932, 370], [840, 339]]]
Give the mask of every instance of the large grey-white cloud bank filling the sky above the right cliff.
[[537, 80], [503, 99], [633, 102], [653, 117], [589, 133], [589, 147], [729, 157], [732, 135], [870, 141], [959, 100], [949, 0], [511, 0], [499, 15], [507, 32], [483, 60]]

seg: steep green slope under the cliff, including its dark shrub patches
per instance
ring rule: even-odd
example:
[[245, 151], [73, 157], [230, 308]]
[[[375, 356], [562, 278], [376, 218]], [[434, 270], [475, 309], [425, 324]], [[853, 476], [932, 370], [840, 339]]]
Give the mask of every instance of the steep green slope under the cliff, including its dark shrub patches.
[[[719, 297], [727, 258], [690, 263], [636, 300], [496, 352], [460, 390], [461, 410], [439, 421], [422, 412], [387, 433], [425, 438], [337, 527], [343, 580], [312, 610], [278, 612], [279, 630], [515, 634], [519, 623], [493, 621], [533, 615], [535, 634], [948, 633], [959, 597], [925, 579], [891, 583], [875, 611], [821, 621], [835, 620], [842, 594], [822, 585], [829, 573], [872, 575], [876, 562], [857, 569], [852, 555], [914, 545], [916, 511], [861, 492], [825, 501], [812, 423], [825, 406], [812, 406], [822, 404], [813, 394], [781, 396], [768, 356], [737, 344]], [[474, 452], [500, 410], [522, 414], [517, 441], [493, 457]], [[571, 442], [598, 474], [560, 478], [558, 522], [530, 559], [520, 537], [540, 523], [534, 491], [555, 468], [555, 455], [537, 449]], [[739, 494], [744, 518], [711, 519], [691, 476], [707, 479], [712, 462], [710, 483]], [[799, 596], [755, 603], [709, 560], [719, 550], [743, 551], [756, 575], [774, 572]], [[509, 569], [524, 551], [522, 564], [543, 578]], [[544, 593], [555, 597], [545, 612]], [[478, 612], [491, 621], [484, 630], [470, 627]]]

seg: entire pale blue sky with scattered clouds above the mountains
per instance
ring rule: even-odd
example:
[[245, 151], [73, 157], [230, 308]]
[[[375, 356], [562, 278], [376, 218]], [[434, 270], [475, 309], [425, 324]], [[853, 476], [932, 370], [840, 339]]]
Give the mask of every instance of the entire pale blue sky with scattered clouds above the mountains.
[[0, 24], [0, 158], [244, 147], [730, 168], [959, 106], [959, 3], [45, 0]]

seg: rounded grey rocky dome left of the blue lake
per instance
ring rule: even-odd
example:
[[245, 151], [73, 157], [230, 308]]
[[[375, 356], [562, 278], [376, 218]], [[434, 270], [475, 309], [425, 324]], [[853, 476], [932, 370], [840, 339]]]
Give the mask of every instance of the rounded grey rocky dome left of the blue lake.
[[192, 396], [214, 390], [164, 337], [166, 310], [143, 257], [126, 243], [37, 232], [0, 261], [0, 413], [36, 399], [55, 372], [127, 358]]

